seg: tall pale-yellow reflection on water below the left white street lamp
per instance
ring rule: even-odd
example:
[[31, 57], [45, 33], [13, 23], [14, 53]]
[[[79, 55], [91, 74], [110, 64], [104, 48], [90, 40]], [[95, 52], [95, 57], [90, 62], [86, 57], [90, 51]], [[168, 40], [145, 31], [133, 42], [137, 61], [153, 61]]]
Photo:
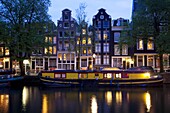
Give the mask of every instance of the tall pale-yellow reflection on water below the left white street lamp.
[[22, 105], [23, 107], [26, 107], [26, 104], [28, 102], [28, 88], [24, 87], [22, 90]]

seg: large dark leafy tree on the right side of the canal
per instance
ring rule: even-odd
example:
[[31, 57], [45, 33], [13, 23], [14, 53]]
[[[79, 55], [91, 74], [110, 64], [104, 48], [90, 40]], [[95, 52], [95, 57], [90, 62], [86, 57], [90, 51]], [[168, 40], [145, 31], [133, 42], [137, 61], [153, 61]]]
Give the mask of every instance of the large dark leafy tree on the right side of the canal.
[[138, 0], [132, 17], [132, 38], [154, 37], [163, 72], [163, 54], [170, 53], [170, 0]]

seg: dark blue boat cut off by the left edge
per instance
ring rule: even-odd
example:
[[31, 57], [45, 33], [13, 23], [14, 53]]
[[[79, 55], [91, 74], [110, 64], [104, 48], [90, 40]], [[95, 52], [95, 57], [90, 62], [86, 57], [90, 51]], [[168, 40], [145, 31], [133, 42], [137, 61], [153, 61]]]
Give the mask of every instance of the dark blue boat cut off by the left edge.
[[16, 76], [14, 69], [0, 69], [0, 88], [19, 84], [23, 78], [23, 76]]

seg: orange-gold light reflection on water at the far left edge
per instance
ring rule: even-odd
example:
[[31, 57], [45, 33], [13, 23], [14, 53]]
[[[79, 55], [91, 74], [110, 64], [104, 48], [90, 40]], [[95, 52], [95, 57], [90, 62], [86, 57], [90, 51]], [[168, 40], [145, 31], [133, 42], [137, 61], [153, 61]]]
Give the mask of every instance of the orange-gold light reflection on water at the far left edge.
[[1, 111], [3, 111], [4, 113], [7, 113], [8, 108], [9, 108], [9, 95], [7, 95], [7, 94], [0, 95], [0, 109], [1, 109]]

